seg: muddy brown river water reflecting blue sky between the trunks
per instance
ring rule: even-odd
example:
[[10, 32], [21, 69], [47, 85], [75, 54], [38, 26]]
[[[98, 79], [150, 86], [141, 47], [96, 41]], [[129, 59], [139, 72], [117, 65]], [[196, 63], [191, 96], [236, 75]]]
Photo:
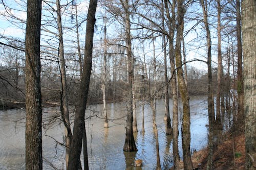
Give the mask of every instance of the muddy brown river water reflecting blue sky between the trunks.
[[[170, 100], [170, 111], [172, 101]], [[102, 105], [90, 105], [87, 109], [86, 130], [90, 169], [155, 169], [156, 148], [152, 128], [152, 112], [145, 105], [145, 132], [141, 133], [142, 105], [137, 104], [137, 126], [135, 133], [138, 151], [123, 152], [125, 139], [126, 107], [124, 103], [108, 104], [109, 129], [103, 128]], [[179, 109], [181, 110], [181, 106]], [[72, 110], [71, 110], [72, 111]], [[165, 135], [164, 101], [158, 100], [156, 106], [160, 161], [162, 169], [173, 164], [172, 136]], [[181, 112], [181, 111], [180, 111]], [[207, 101], [197, 96], [190, 99], [191, 150], [200, 150], [207, 145]], [[66, 169], [65, 148], [58, 142], [63, 141], [63, 125], [59, 119], [59, 108], [43, 110], [43, 158], [44, 169]], [[73, 119], [74, 116], [71, 116]], [[181, 120], [182, 116], [180, 116]], [[172, 116], [171, 116], [172, 119]], [[0, 111], [0, 169], [25, 169], [25, 109]], [[179, 151], [181, 148], [181, 123], [179, 133]], [[57, 142], [58, 141], [58, 142]], [[82, 156], [81, 156], [82, 157]], [[142, 159], [142, 167], [134, 167], [135, 159]]]

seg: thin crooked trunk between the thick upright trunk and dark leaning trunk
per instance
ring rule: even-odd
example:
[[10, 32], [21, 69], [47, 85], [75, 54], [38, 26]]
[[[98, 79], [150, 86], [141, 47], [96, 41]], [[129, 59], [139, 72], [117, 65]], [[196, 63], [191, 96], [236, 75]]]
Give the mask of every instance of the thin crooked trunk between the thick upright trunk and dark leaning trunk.
[[69, 164], [69, 149], [71, 145], [72, 132], [70, 128], [70, 120], [69, 120], [69, 104], [68, 104], [68, 85], [66, 81], [66, 64], [64, 57], [64, 45], [63, 45], [63, 37], [62, 37], [62, 23], [61, 23], [61, 14], [60, 14], [60, 4], [59, 0], [56, 0], [57, 7], [57, 23], [58, 23], [58, 38], [59, 38], [59, 48], [58, 55], [60, 59], [60, 77], [61, 77], [61, 117], [62, 121], [65, 125], [65, 143], [66, 143], [66, 167]]

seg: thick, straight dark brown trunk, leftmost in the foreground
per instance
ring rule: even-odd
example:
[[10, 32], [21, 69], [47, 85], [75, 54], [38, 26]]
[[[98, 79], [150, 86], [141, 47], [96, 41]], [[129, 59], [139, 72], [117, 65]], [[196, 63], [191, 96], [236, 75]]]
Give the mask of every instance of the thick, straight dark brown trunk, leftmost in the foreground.
[[26, 28], [26, 169], [42, 169], [42, 108], [40, 86], [41, 1], [27, 1]]

